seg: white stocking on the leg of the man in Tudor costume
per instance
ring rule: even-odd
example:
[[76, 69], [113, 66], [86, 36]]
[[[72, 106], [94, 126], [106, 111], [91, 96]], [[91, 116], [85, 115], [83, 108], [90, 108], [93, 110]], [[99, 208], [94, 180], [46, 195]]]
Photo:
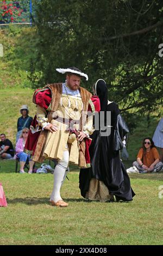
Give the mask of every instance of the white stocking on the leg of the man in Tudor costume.
[[58, 161], [58, 164], [54, 169], [54, 185], [50, 200], [53, 200], [55, 203], [62, 199], [60, 196], [60, 188], [66, 178], [68, 160], [69, 152], [64, 151], [63, 159]]

